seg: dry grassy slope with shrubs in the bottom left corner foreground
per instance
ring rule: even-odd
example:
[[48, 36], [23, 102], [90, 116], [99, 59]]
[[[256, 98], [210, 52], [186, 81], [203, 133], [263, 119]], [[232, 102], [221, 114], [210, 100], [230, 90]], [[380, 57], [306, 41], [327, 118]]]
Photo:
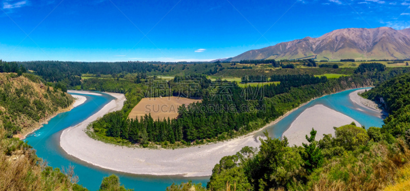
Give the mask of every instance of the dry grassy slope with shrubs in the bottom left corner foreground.
[[18, 138], [0, 128], [0, 190], [86, 190], [75, 184], [73, 166], [52, 168]]

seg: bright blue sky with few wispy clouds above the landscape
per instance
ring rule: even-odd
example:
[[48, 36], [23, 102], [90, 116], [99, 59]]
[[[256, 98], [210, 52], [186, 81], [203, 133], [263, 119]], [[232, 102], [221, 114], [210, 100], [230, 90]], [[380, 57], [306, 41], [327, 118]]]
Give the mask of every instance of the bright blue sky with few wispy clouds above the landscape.
[[0, 0], [0, 59], [232, 57], [340, 28], [410, 27], [410, 0]]

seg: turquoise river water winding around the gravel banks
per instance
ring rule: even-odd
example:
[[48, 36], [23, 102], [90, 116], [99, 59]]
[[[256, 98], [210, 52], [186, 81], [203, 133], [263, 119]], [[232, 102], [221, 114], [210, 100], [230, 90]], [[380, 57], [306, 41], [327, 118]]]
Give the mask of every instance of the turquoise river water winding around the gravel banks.
[[[353, 103], [348, 94], [355, 90], [347, 90], [337, 94], [327, 95], [309, 102], [298, 110], [292, 112], [278, 123], [267, 128], [271, 137], [281, 137], [282, 133], [289, 128], [292, 121], [297, 118], [305, 109], [316, 104], [323, 104], [335, 111], [352, 117], [366, 129], [370, 126], [381, 127], [383, 120], [380, 114], [372, 110], [360, 107]], [[111, 174], [119, 176], [121, 184], [127, 188], [135, 190], [165, 190], [173, 182], [181, 183], [192, 180], [195, 183], [206, 185], [210, 177], [179, 177], [179, 176], [141, 176], [120, 172], [114, 172], [107, 169], [95, 167], [86, 162], [80, 161], [74, 157], [68, 156], [59, 146], [59, 136], [61, 131], [84, 121], [105, 104], [110, 102], [114, 97], [100, 93], [103, 96], [76, 94], [87, 97], [87, 101], [69, 112], [60, 113], [52, 118], [42, 128], [27, 136], [25, 139], [36, 150], [38, 157], [47, 160], [48, 164], [53, 167], [75, 166], [74, 172], [79, 177], [78, 184], [82, 184], [90, 190], [97, 190], [104, 177]]]

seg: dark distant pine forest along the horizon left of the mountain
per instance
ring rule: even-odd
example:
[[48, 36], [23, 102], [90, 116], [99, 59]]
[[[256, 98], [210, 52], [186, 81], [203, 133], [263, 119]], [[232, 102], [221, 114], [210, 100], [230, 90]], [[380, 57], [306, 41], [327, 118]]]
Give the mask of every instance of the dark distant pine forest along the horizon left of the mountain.
[[[199, 62], [200, 63], [200, 62]], [[193, 73], [208, 73], [211, 67], [199, 65], [196, 62], [75, 62], [75, 61], [26, 61], [18, 62], [28, 70], [42, 76], [49, 82], [64, 82], [69, 87], [81, 85], [81, 75], [93, 74], [95, 77], [110, 75], [118, 78], [120, 75], [132, 73], [146, 75], [183, 75]], [[211, 66], [211, 64], [209, 64]], [[191, 70], [189, 66], [191, 67]], [[211, 71], [215, 69], [212, 67]], [[218, 71], [218, 69], [216, 69]], [[135, 75], [136, 74], [136, 75]], [[137, 78], [137, 77], [136, 77]], [[145, 77], [144, 77], [145, 78]]]

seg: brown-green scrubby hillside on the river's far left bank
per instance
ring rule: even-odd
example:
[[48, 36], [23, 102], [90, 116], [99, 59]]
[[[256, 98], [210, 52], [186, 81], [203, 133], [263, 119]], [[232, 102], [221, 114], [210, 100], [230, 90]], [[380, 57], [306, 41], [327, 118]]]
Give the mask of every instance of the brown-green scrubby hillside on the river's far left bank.
[[32, 131], [71, 103], [71, 95], [46, 86], [38, 76], [0, 73], [0, 126], [8, 137]]

